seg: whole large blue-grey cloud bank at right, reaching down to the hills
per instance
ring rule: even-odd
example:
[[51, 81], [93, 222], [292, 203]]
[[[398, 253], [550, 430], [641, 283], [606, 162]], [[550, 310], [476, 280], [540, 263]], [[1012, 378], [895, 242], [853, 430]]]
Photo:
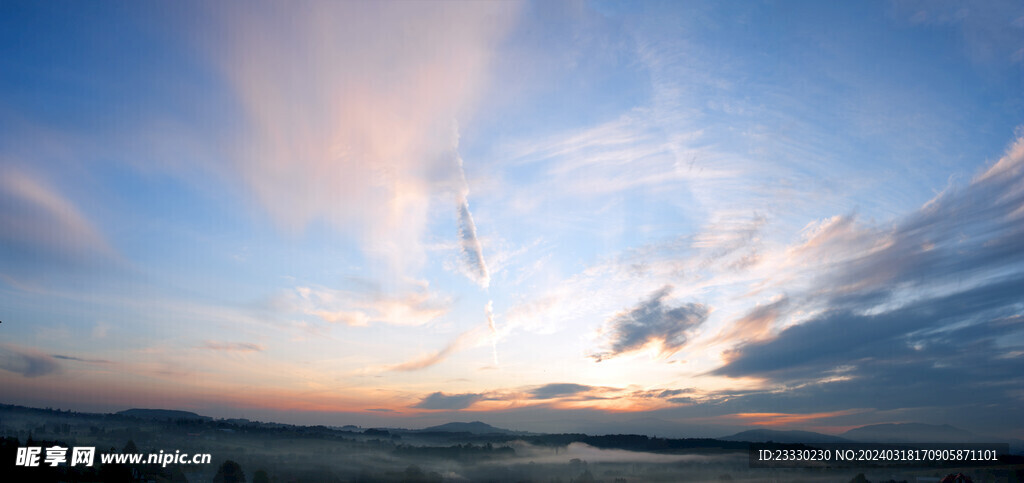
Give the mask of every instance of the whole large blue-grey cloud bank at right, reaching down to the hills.
[[[845, 261], [822, 264], [815, 289], [790, 299], [794, 308], [823, 310], [771, 340], [736, 346], [712, 371], [762, 378], [772, 389], [702, 395], [668, 414], [867, 408], [901, 421], [1019, 432], [1006, 414], [1024, 411], [1022, 207], [1018, 140], [968, 185], [889, 227], [853, 229], [852, 219], [840, 220], [861, 238], [815, 240], [814, 250], [840, 251]], [[828, 424], [864, 422], [842, 418]]]

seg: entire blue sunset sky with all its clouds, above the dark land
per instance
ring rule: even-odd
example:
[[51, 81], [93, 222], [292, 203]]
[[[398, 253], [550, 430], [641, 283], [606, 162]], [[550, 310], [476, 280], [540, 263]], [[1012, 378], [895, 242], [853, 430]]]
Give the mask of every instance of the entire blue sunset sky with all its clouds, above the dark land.
[[1015, 2], [2, 9], [4, 402], [1020, 434]]

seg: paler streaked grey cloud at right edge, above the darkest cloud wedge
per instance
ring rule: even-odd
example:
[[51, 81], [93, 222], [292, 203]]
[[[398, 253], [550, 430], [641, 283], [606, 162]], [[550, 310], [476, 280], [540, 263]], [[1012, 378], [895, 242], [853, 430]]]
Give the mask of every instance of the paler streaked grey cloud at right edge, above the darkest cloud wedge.
[[921, 210], [878, 230], [884, 248], [829, 270], [833, 296], [878, 295], [1024, 270], [1024, 140], [967, 186], [951, 187]]

